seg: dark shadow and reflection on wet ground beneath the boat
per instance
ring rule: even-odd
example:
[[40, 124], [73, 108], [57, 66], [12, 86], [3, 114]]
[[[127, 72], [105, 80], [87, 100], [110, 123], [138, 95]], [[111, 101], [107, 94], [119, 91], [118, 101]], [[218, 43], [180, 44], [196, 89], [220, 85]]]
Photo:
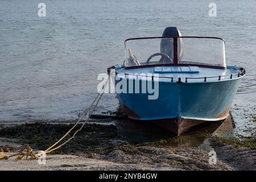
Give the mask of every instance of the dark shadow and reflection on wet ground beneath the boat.
[[[155, 142], [158, 140], [166, 140], [176, 137], [174, 133], [164, 129], [154, 123], [134, 121], [132, 119], [120, 119], [116, 122], [118, 133], [127, 141], [135, 143], [143, 142]], [[204, 122], [186, 133], [181, 134], [179, 137], [184, 138], [180, 143], [166, 143], [167, 146], [192, 146], [192, 147], [205, 147], [205, 150], [209, 150], [209, 142], [207, 142], [210, 136], [217, 137], [232, 137], [234, 124], [232, 117], [229, 116], [223, 122]]]

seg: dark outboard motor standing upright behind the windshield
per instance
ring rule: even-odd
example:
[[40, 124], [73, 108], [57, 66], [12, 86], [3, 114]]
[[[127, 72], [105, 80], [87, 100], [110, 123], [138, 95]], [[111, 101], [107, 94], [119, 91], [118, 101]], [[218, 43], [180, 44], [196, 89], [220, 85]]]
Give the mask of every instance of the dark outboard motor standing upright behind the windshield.
[[[180, 30], [177, 27], [166, 27], [163, 32], [163, 37], [168, 36], [181, 36]], [[177, 51], [179, 53], [178, 60], [180, 61], [183, 56], [183, 41], [181, 38], [177, 40]], [[174, 60], [174, 40], [172, 39], [162, 39], [160, 44], [160, 52], [165, 53], [169, 57], [171, 57], [172, 60]], [[166, 60], [165, 57], [162, 57], [160, 60], [160, 63], [167, 63], [168, 60]]]

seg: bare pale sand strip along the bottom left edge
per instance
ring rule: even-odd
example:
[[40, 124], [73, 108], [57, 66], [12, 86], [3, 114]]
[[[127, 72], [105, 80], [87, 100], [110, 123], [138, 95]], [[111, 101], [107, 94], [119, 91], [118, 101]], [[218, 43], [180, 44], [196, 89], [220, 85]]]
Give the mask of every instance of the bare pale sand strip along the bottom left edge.
[[6, 160], [0, 162], [0, 170], [174, 170], [170, 166], [122, 164], [107, 160], [90, 159], [75, 155], [47, 155], [46, 164], [37, 160]]

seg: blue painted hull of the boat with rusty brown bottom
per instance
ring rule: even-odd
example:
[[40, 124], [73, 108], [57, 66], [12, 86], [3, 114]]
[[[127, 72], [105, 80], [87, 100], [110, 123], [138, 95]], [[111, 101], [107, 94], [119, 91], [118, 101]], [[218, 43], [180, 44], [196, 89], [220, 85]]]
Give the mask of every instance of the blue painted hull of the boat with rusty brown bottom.
[[[151, 121], [180, 135], [200, 123], [228, 118], [240, 80], [159, 82], [156, 100], [148, 100], [148, 93], [119, 93], [117, 97], [130, 119]], [[137, 81], [141, 86], [141, 80]]]

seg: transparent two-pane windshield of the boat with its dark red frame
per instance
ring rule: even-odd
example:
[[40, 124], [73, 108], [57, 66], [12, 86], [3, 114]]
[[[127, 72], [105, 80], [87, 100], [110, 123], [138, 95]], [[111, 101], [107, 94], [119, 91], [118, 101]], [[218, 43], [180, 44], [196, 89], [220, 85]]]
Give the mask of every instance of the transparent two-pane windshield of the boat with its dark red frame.
[[226, 68], [224, 40], [208, 37], [158, 37], [125, 41], [125, 67], [162, 64]]

